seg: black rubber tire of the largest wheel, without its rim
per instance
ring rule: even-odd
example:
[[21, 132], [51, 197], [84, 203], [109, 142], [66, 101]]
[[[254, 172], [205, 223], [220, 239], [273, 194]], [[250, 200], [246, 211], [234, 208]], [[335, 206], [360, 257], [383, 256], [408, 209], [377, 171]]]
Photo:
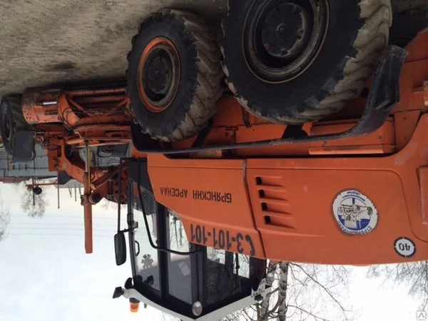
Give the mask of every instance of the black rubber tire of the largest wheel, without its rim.
[[[223, 19], [223, 68], [240, 104], [270, 122], [301, 124], [335, 113], [360, 95], [388, 44], [389, 0], [319, 1], [325, 3], [330, 16], [323, 43], [305, 68], [297, 69], [290, 78], [273, 80], [252, 70], [244, 46], [255, 6], [267, 1], [271, 0], [230, 0], [228, 16]], [[316, 39], [312, 34], [307, 39]]]

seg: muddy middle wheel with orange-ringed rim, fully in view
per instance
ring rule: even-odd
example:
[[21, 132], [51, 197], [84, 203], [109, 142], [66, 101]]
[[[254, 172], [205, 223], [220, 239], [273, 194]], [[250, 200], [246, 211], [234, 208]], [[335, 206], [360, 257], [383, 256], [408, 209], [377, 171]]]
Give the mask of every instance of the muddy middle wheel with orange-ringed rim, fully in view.
[[[163, 41], [163, 47], [153, 42], [156, 39]], [[210, 34], [210, 28], [193, 14], [163, 10], [141, 24], [132, 43], [133, 49], [128, 54], [126, 73], [128, 95], [131, 98], [131, 109], [143, 133], [165, 142], [194, 136], [216, 113], [215, 102], [223, 93], [220, 88], [223, 78], [221, 54], [215, 37]], [[153, 48], [148, 49], [149, 47]], [[168, 70], [165, 73], [162, 73], [163, 69], [159, 69], [161, 76], [166, 75], [165, 79], [172, 78], [172, 81], [168, 80], [169, 83], [165, 81], [168, 93], [163, 92], [165, 85], [162, 82], [162, 88], [153, 90], [152, 84], [148, 83], [153, 83], [153, 78], [159, 77], [160, 74], [156, 70], [155, 76], [152, 76], [151, 66], [154, 63], [149, 60], [158, 48], [168, 51], [170, 57], [177, 56], [176, 60], [167, 58], [170, 59], [168, 61], [175, 61], [172, 72], [169, 72], [168, 67], [165, 67]], [[162, 55], [165, 57], [164, 53]], [[154, 59], [158, 60], [152, 61], [161, 60], [157, 57]], [[166, 66], [168, 61], [162, 63]], [[174, 63], [170, 63], [168, 66], [173, 65]], [[142, 70], [147, 71], [147, 74]], [[168, 78], [170, 73], [173, 76]], [[159, 87], [158, 84], [156, 86]], [[159, 92], [162, 93], [158, 95]], [[163, 100], [166, 102], [163, 103]]]

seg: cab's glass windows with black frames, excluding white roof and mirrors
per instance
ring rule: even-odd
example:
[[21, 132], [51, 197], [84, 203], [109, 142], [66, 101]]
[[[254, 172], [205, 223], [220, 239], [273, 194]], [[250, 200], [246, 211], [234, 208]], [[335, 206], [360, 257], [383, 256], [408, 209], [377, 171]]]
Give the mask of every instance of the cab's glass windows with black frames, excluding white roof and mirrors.
[[179, 213], [156, 203], [143, 188], [140, 195], [136, 183], [130, 188], [128, 210], [137, 226], [130, 233], [133, 280], [143, 297], [194, 317], [194, 302], [210, 312], [251, 294], [260, 260], [189, 243]]

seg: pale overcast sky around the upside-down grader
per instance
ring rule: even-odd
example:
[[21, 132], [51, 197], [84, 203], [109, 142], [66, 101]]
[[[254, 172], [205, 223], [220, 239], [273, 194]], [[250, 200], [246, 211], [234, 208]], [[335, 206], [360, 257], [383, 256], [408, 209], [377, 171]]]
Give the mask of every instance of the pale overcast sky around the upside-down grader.
[[[50, 190], [44, 218], [21, 210], [14, 185], [1, 185], [1, 199], [11, 208], [9, 236], [0, 243], [0, 321], [163, 320], [150, 307], [129, 312], [128, 301], [113, 300], [113, 290], [131, 276], [128, 262], [116, 267], [113, 235], [116, 210], [93, 210], [94, 244], [86, 255], [83, 208], [62, 191], [61, 209]], [[364, 250], [364, 249], [362, 249]], [[367, 280], [365, 267], [355, 267], [350, 300], [359, 321], [414, 321], [418, 303], [404, 289], [380, 288]], [[340, 321], [340, 320], [339, 320]]]

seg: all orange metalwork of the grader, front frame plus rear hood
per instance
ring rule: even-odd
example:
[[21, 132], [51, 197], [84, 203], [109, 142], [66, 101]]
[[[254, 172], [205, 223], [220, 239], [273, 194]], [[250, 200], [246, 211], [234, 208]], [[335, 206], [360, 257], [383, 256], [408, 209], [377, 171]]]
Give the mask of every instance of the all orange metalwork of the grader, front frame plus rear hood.
[[[180, 214], [192, 243], [297, 262], [428, 260], [428, 32], [419, 34], [407, 49], [401, 103], [370, 135], [195, 153], [185, 159], [146, 155], [132, 148], [133, 158], [148, 159], [156, 200]], [[24, 98], [24, 116], [36, 124], [36, 139], [48, 149], [49, 169], [66, 170], [86, 184], [85, 208], [96, 203], [94, 193], [113, 193], [118, 202], [126, 200], [126, 193], [118, 195], [117, 168], [107, 172], [91, 168], [88, 175], [84, 162], [71, 152], [86, 144], [131, 141], [133, 115], [125, 89], [28, 93]], [[310, 136], [345, 131], [364, 105], [365, 98], [358, 98], [329, 120], [307, 123], [303, 130]], [[223, 97], [204, 144], [281, 138], [285, 128], [266, 123], [243, 111], [233, 98]], [[194, 141], [174, 143], [173, 148], [188, 148]], [[125, 182], [126, 171], [121, 175]], [[377, 213], [377, 224], [365, 235], [345, 233], [335, 219], [336, 198], [350, 190], [367, 196]], [[86, 219], [91, 223], [90, 210]], [[397, 240], [402, 238], [414, 245], [407, 257], [397, 252]]]

